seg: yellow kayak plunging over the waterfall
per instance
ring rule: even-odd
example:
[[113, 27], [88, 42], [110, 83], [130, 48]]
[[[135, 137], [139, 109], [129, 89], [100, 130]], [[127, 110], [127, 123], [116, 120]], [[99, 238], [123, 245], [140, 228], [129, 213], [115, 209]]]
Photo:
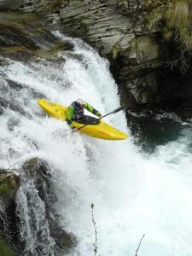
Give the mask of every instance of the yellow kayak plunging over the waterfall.
[[[49, 116], [55, 117], [56, 119], [65, 120], [67, 114], [67, 107], [54, 102], [49, 102], [45, 99], [38, 99], [38, 105], [49, 114]], [[83, 124], [79, 124], [73, 121], [73, 125], [76, 128], [80, 128]], [[113, 126], [108, 125], [102, 120], [98, 125], [86, 125], [84, 128], [79, 130], [81, 133], [89, 135], [91, 137], [100, 138], [103, 140], [124, 140], [128, 137], [122, 131], [115, 129]]]

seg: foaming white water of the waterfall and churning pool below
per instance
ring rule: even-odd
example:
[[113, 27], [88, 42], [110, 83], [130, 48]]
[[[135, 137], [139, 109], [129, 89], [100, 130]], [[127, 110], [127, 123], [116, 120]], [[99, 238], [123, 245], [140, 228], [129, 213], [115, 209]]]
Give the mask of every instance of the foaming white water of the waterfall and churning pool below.
[[[0, 116], [0, 166], [9, 166], [8, 156], [12, 164], [18, 162], [19, 166], [34, 156], [54, 166], [55, 193], [60, 198], [55, 211], [61, 215], [61, 224], [79, 241], [76, 251], [70, 255], [94, 254], [92, 202], [96, 206], [99, 255], [135, 255], [143, 233], [146, 236], [139, 255], [191, 255], [190, 135], [158, 147], [148, 156], [138, 151], [131, 137], [120, 142], [102, 141], [73, 134], [66, 123], [41, 116], [43, 112], [38, 108], [37, 96], [32, 96], [32, 90], [64, 105], [83, 96], [102, 113], [119, 107], [117, 88], [108, 72], [108, 63], [79, 40], [73, 43], [75, 53], [81, 55], [83, 61], [70, 57], [66, 62], [60, 61], [60, 65], [44, 60], [32, 65], [10, 64], [9, 78], [28, 88], [17, 92], [14, 100], [20, 102], [32, 118], [9, 109]], [[8, 130], [10, 118], [20, 119], [14, 131]], [[109, 115], [106, 121], [127, 131], [124, 113]], [[9, 148], [14, 148], [15, 153], [9, 155]], [[28, 245], [34, 245], [36, 237], [28, 221], [30, 206], [26, 203], [26, 185], [30, 191], [34, 189], [32, 184], [24, 183], [18, 193], [22, 210], [20, 218], [25, 220], [20, 232]], [[41, 220], [44, 204], [39, 200], [39, 212], [36, 208], [34, 211], [36, 218]], [[50, 252], [54, 241], [49, 237], [46, 223], [43, 229], [50, 240], [47, 246], [47, 252]]]

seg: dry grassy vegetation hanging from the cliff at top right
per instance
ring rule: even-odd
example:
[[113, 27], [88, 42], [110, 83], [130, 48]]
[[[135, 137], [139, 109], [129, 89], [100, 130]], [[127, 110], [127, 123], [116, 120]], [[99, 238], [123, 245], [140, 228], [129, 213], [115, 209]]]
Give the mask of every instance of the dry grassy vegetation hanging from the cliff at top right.
[[190, 0], [171, 0], [161, 1], [148, 15], [148, 28], [161, 29], [164, 39], [177, 45], [179, 55], [171, 66], [179, 66], [182, 73], [189, 67], [188, 60], [192, 50], [191, 12]]

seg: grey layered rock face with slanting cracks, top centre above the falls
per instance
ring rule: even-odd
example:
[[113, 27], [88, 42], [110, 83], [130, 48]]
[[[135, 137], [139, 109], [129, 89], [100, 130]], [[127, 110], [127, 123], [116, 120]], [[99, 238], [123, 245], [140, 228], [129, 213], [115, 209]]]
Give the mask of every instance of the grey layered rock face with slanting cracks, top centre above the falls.
[[120, 14], [118, 1], [72, 1], [60, 16], [67, 34], [83, 38], [102, 55], [110, 55], [115, 44], [126, 49], [134, 38], [131, 16]]

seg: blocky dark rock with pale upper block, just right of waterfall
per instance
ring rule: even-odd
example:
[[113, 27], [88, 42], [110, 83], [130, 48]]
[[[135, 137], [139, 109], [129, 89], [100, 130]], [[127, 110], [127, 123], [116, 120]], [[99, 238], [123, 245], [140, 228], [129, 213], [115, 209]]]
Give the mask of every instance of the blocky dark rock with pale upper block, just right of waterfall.
[[140, 35], [131, 39], [126, 55], [112, 62], [114, 77], [119, 81], [127, 107], [160, 101], [160, 67], [164, 65], [158, 37]]

